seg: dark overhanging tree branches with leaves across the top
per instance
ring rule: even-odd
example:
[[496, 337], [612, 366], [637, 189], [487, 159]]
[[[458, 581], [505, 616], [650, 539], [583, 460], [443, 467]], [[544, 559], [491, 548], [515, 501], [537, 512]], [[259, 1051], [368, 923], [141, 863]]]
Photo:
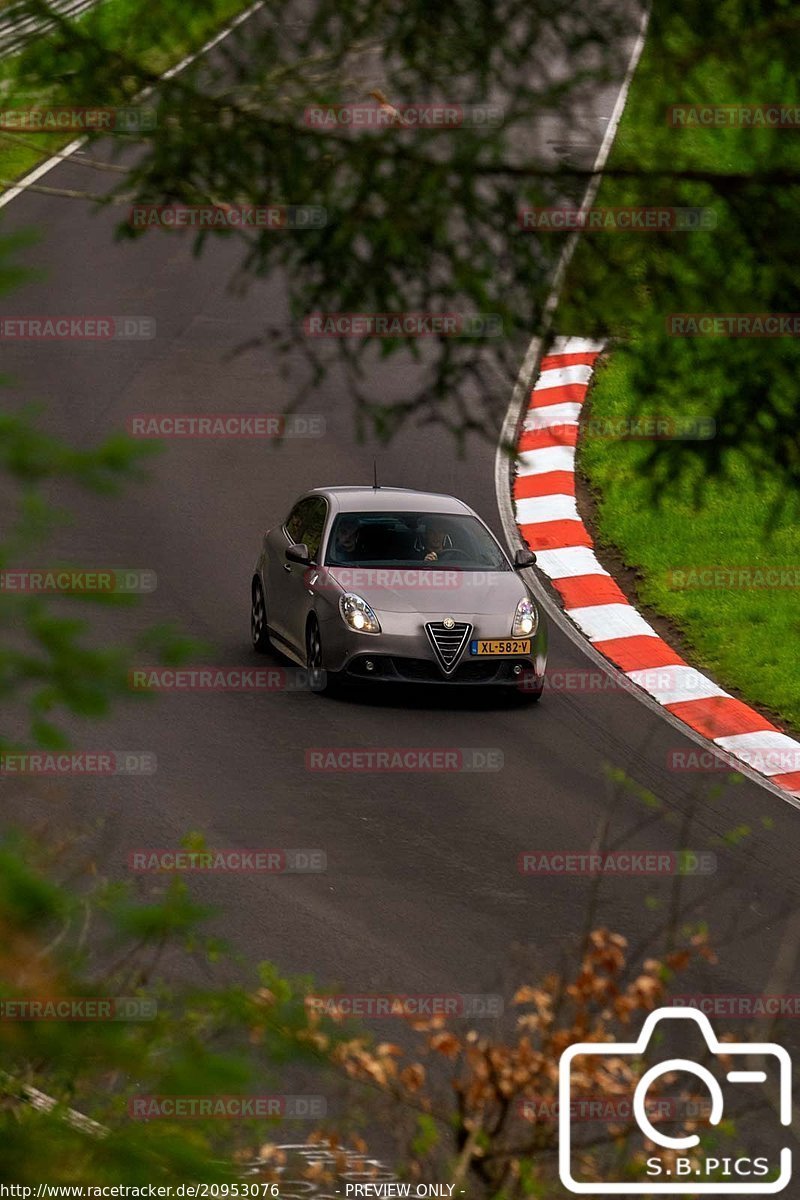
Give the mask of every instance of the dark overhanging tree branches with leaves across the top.
[[[28, 4], [32, 14], [47, 7]], [[313, 386], [342, 368], [359, 436], [389, 438], [407, 422], [433, 420], [457, 437], [471, 430], [494, 437], [524, 349], [541, 331], [566, 236], [523, 232], [518, 211], [583, 197], [599, 143], [594, 96], [624, 73], [630, 13], [551, 0], [522, 8], [455, 0], [435, 13], [423, 0], [317, 0], [305, 23], [287, 24], [266, 5], [215, 55], [158, 83], [184, 25], [191, 42], [197, 22], [229, 11], [223, 0], [192, 6], [188, 19], [175, 0], [96, 6], [77, 24], [60, 22], [52, 38], [14, 61], [10, 94], [49, 88], [53, 103], [102, 95], [107, 104], [128, 106], [155, 85], [156, 127], [114, 136], [112, 166], [122, 174], [97, 196], [119, 206], [120, 235], [190, 239], [198, 254], [213, 238], [235, 239], [237, 287], [282, 271], [287, 313], [276, 314], [275, 328], [265, 320], [263, 342], [300, 360], [296, 400], [301, 377]], [[730, 450], [750, 455], [763, 474], [800, 478], [796, 340], [681, 340], [664, 331], [669, 312], [800, 307], [793, 131], [667, 121], [669, 104], [754, 102], [753, 79], [763, 97], [794, 104], [799, 50], [796, 18], [782, 4], [756, 11], [730, 0], [712, 12], [692, 0], [655, 6], [600, 203], [710, 206], [717, 227], [585, 234], [559, 313], [563, 332], [632, 344], [634, 396], [663, 410], [676, 395], [688, 397], [716, 419], [714, 439], [650, 448], [655, 488], [691, 476], [698, 463], [704, 475], [723, 473]], [[363, 128], [308, 118], [341, 106], [377, 112], [378, 96], [397, 110], [451, 106], [462, 119]], [[136, 164], [127, 166], [128, 156], [122, 166], [132, 143]], [[88, 173], [92, 194], [94, 178]], [[131, 203], [314, 205], [327, 223], [137, 230]], [[503, 332], [319, 343], [303, 332], [314, 311], [488, 312], [501, 318]], [[392, 398], [371, 394], [368, 367], [379, 358], [415, 366]], [[760, 425], [754, 414], [769, 419]], [[118, 451], [124, 461], [125, 443]], [[108, 476], [97, 469], [100, 485]]]

